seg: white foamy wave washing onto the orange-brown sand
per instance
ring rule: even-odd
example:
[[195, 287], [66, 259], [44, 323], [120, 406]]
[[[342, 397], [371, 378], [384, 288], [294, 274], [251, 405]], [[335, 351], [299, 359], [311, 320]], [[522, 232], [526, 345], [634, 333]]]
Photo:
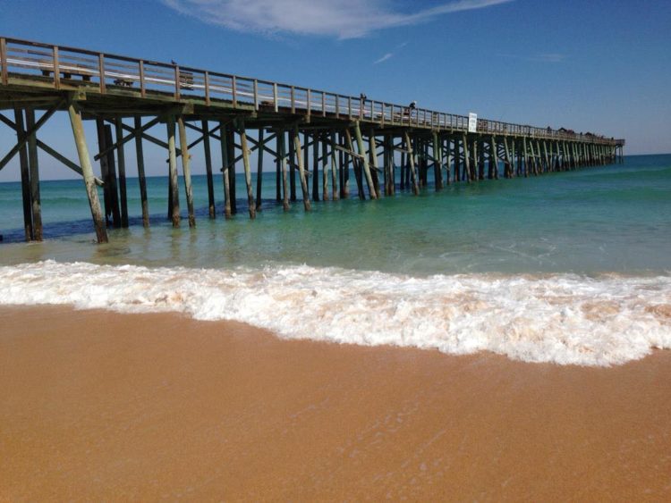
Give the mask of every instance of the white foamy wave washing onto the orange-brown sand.
[[208, 270], [54, 261], [0, 267], [0, 304], [237, 320], [292, 339], [614, 365], [671, 348], [671, 277], [436, 275], [310, 266]]

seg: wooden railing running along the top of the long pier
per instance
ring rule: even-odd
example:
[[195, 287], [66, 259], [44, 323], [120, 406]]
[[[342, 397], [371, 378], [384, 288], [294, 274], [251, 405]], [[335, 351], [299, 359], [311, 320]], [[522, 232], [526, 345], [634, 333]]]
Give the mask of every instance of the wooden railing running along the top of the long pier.
[[[256, 111], [282, 110], [307, 116], [358, 119], [379, 125], [468, 131], [468, 117], [465, 115], [435, 112], [412, 105], [394, 105], [364, 96], [344, 96], [174, 63], [0, 38], [0, 84], [7, 85], [10, 76], [17, 75], [50, 82], [55, 89], [60, 89], [64, 82], [76, 85], [81, 81], [101, 94], [110, 90], [135, 90], [140, 96], [158, 92], [173, 95], [175, 100], [197, 97], [204, 99], [206, 105], [219, 100], [229, 102], [233, 108], [251, 106]], [[493, 135], [624, 145], [624, 139], [486, 119], [478, 120], [477, 131]]]

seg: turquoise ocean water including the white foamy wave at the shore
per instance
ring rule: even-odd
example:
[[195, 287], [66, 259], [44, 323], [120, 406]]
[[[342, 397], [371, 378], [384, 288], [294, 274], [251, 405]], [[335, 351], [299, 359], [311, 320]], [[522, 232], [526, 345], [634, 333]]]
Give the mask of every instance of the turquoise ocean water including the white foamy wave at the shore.
[[[81, 180], [41, 184], [46, 239], [30, 245], [20, 184], [2, 183], [2, 302], [179, 311], [285, 337], [586, 365], [671, 345], [671, 155], [440, 192], [429, 182], [419, 197], [361, 202], [352, 190], [309, 214], [300, 200], [285, 213], [275, 173], [264, 176], [253, 222], [242, 177], [226, 221], [220, 177], [209, 220], [195, 176], [197, 227], [179, 230], [166, 220], [165, 177], [149, 178], [142, 228], [131, 178], [131, 228], [101, 246]], [[183, 189], [181, 203], [185, 216]]]

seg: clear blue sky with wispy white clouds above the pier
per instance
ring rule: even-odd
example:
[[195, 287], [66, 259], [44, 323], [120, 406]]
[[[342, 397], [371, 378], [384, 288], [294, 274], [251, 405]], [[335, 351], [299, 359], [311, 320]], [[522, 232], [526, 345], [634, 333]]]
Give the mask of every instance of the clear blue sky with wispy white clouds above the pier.
[[[626, 138], [627, 154], [671, 152], [669, 0], [0, 0], [0, 13], [7, 37], [591, 130]], [[40, 133], [76, 158], [64, 114]], [[0, 124], [1, 155], [12, 141]], [[0, 180], [18, 178], [14, 163]], [[41, 167], [43, 178], [70, 176], [46, 157]]]

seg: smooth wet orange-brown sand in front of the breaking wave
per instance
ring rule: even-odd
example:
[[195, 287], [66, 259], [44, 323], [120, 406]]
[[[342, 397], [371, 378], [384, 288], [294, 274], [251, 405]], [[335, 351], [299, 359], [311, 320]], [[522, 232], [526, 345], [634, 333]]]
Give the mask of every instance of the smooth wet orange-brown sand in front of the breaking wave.
[[612, 368], [0, 308], [0, 500], [671, 500], [671, 352]]

